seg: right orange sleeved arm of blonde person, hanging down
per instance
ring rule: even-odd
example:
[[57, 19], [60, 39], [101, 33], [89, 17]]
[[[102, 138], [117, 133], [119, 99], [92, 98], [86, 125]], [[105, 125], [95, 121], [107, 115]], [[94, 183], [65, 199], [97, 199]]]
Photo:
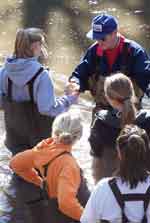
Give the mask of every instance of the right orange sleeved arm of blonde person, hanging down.
[[[72, 162], [72, 161], [71, 161]], [[67, 216], [79, 220], [83, 207], [77, 199], [77, 192], [80, 186], [80, 169], [73, 164], [65, 164], [57, 188], [57, 199], [59, 209]]]

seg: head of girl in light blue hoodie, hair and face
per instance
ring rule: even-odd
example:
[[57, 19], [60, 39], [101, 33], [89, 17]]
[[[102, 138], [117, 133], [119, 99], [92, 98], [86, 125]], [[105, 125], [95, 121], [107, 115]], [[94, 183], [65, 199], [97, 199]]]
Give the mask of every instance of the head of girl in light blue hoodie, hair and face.
[[47, 57], [45, 34], [39, 28], [19, 29], [16, 34], [16, 58]]

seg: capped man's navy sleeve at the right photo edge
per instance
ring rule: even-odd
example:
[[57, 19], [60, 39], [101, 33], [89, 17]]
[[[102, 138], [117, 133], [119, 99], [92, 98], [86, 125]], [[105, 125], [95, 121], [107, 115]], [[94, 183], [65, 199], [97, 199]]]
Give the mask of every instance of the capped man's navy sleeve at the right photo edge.
[[131, 73], [138, 86], [147, 94], [150, 83], [150, 58], [142, 47], [135, 49]]

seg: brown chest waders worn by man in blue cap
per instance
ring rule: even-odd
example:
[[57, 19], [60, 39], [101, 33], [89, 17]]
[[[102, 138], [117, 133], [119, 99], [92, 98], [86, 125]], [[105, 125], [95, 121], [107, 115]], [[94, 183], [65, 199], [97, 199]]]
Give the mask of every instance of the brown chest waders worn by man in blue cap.
[[[105, 98], [104, 81], [105, 81], [106, 76], [101, 74], [100, 64], [101, 64], [102, 57], [98, 56], [96, 54], [96, 49], [95, 49], [95, 57], [93, 58], [93, 64], [95, 66], [95, 71], [89, 78], [89, 90], [90, 90], [91, 95], [93, 96], [95, 104], [96, 104], [95, 108], [93, 109], [93, 117], [94, 117], [94, 114], [100, 109], [109, 109], [109, 110], [112, 109], [112, 107], [107, 102], [107, 99]], [[122, 73], [126, 74], [127, 76], [129, 76], [128, 67], [131, 67], [132, 64], [134, 64], [133, 58], [131, 58], [132, 57], [131, 54], [132, 54], [132, 52], [130, 52], [129, 43], [125, 42], [124, 46], [123, 46], [123, 50], [122, 50], [122, 55], [123, 55], [122, 66], [121, 66], [120, 70], [118, 70], [118, 72], [122, 72]], [[107, 76], [108, 75], [110, 75], [110, 73], [108, 73]], [[133, 82], [135, 94], [138, 99], [137, 107], [140, 108], [141, 107], [140, 106], [141, 98], [143, 97], [144, 94], [143, 94], [142, 90], [137, 86], [134, 79], [132, 79], [132, 82]]]

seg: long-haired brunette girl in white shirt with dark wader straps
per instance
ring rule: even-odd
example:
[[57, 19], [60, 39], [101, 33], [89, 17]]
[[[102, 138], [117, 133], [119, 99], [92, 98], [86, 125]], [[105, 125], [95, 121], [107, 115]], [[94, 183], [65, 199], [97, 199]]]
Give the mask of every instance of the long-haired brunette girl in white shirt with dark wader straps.
[[126, 125], [117, 138], [119, 170], [93, 191], [81, 223], [150, 222], [150, 141], [144, 129]]

